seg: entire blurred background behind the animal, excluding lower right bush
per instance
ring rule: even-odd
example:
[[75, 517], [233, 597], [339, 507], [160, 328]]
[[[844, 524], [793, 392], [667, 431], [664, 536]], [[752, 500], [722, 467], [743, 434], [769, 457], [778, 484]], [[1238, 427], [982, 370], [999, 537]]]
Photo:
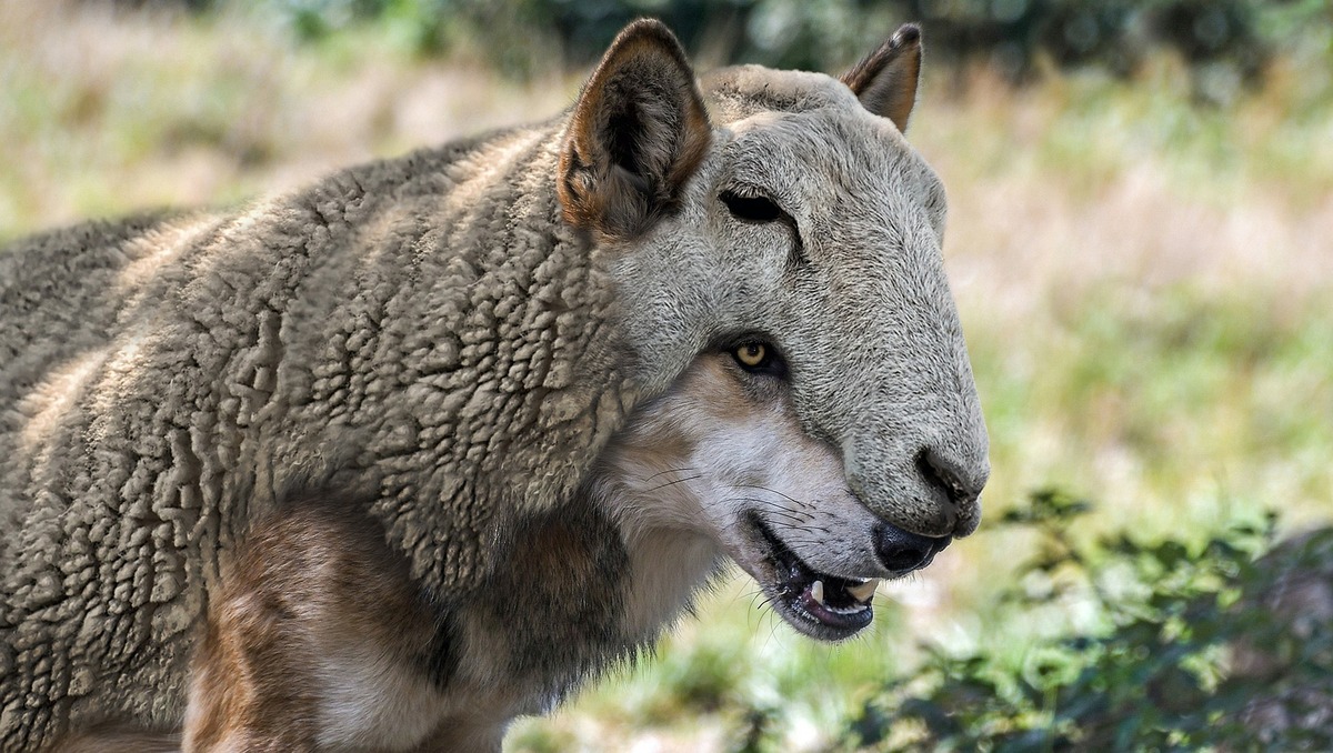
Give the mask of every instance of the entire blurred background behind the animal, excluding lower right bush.
[[[1333, 9], [1325, 1], [0, 0], [0, 240], [229, 204], [549, 116], [623, 21], [700, 67], [837, 73], [906, 20], [909, 139], [950, 196], [945, 257], [992, 433], [989, 520], [1034, 490], [1202, 542], [1333, 518]], [[985, 526], [886, 585], [846, 645], [734, 580], [635, 672], [511, 750], [821, 750], [934, 652], [1021, 668], [1097, 605], [1016, 613], [1034, 542]]]

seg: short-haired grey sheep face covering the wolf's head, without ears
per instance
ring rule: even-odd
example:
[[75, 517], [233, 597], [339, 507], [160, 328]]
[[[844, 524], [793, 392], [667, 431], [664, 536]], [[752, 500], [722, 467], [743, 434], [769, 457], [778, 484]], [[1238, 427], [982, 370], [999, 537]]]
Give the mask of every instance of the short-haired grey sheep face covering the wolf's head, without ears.
[[[657, 392], [724, 333], [766, 333], [792, 367], [802, 425], [842, 448], [848, 484], [870, 509], [922, 534], [969, 533], [978, 508], [952, 509], [914, 466], [930, 446], [968, 489], [989, 473], [940, 255], [940, 179], [828, 76], [740, 67], [704, 83], [726, 125], [676, 221], [616, 271], [644, 378]], [[713, 197], [733, 185], [760, 189], [796, 220], [800, 255], [782, 227], [761, 228], [756, 247], [753, 228], [720, 221]]]

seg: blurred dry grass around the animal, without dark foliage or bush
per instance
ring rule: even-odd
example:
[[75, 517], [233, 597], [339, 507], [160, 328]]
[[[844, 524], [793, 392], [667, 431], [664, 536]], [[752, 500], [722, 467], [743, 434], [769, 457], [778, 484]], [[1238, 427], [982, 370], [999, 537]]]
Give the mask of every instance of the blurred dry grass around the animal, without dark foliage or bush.
[[[293, 48], [244, 17], [0, 3], [0, 239], [280, 191], [545, 117], [579, 84], [520, 87], [379, 41]], [[1190, 107], [1169, 60], [1130, 84], [928, 83], [909, 136], [950, 191], [945, 255], [992, 429], [989, 510], [1056, 484], [1101, 504], [1089, 530], [1333, 514], [1328, 68], [1281, 63], [1225, 111]], [[524, 722], [511, 746], [724, 749], [746, 724], [736, 698], [780, 709], [788, 746], [824, 745], [857, 688], [900, 672], [917, 640], [1022, 650], [1033, 626], [986, 624], [1022, 544], [960, 542], [886, 589], [877, 628], [841, 648], [796, 638], [737, 581], [661, 660]]]

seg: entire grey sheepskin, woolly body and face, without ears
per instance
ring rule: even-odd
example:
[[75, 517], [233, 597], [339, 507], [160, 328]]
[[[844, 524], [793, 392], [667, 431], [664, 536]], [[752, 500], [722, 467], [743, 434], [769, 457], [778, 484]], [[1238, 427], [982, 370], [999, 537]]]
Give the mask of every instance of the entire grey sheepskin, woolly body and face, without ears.
[[[706, 152], [645, 232], [567, 221], [565, 116], [0, 252], [0, 748], [179, 726], [219, 557], [288, 493], [364, 500], [453, 602], [508, 582], [516, 532], [737, 333], [781, 349], [868, 509], [970, 532], [917, 468], [934, 448], [972, 500], [988, 472], [938, 179], [828, 76], [728, 69], [702, 101]], [[737, 224], [729, 188], [794, 229]]]

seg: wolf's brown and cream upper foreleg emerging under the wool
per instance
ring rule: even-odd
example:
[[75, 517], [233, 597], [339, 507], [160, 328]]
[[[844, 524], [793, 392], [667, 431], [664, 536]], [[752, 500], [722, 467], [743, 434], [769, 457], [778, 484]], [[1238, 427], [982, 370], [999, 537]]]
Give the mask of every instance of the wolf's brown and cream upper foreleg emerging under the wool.
[[259, 524], [224, 569], [192, 666], [184, 749], [417, 745], [439, 722], [433, 625], [407, 564], [355, 504]]

